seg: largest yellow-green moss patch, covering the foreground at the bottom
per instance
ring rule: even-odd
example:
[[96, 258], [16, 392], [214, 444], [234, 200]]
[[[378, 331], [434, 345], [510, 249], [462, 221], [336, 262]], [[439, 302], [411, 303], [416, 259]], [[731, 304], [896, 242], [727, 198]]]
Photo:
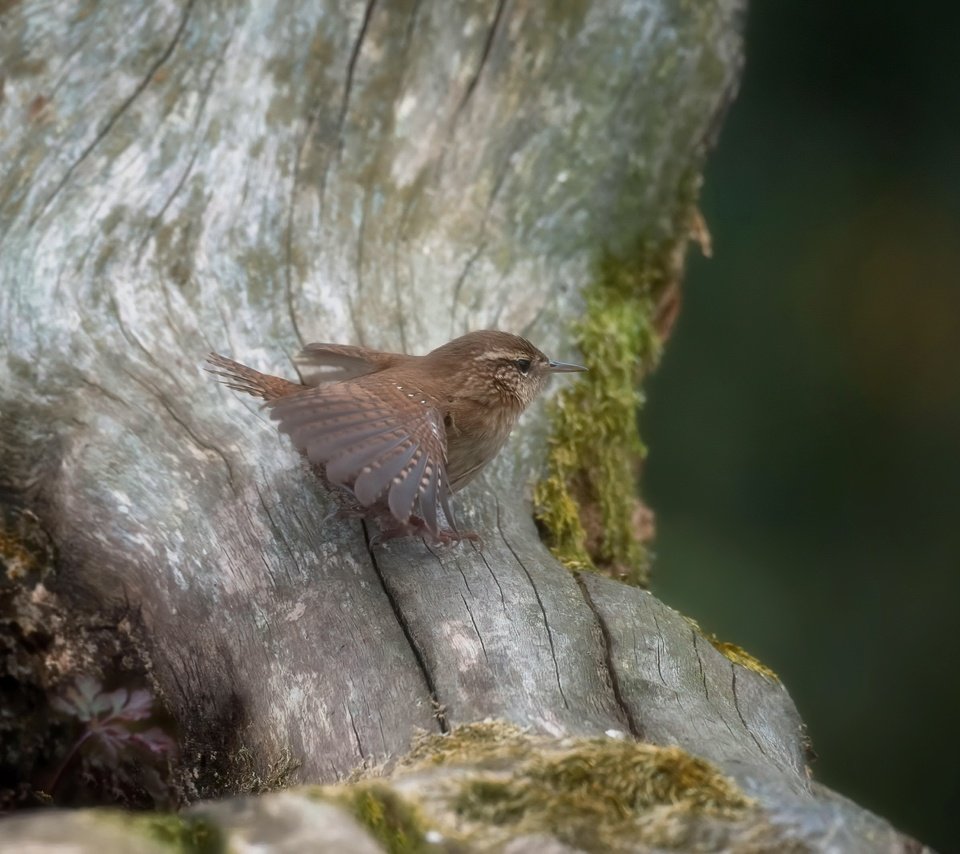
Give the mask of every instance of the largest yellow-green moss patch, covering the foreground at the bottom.
[[[639, 843], [719, 850], [758, 821], [733, 780], [679, 747], [558, 740], [502, 721], [425, 736], [396, 777], [432, 790], [431, 819], [469, 850], [499, 850], [537, 834], [586, 851], [637, 850]], [[721, 840], [719, 848], [703, 847], [711, 839]]]

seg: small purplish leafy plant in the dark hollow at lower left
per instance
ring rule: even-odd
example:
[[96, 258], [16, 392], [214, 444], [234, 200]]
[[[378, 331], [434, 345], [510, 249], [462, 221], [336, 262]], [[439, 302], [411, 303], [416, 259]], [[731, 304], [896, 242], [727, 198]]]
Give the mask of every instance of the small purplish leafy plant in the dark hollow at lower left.
[[155, 759], [173, 754], [176, 742], [159, 727], [142, 729], [139, 721], [153, 714], [153, 696], [139, 688], [128, 691], [104, 691], [92, 676], [81, 676], [67, 688], [64, 696], [54, 698], [54, 709], [84, 725], [84, 730], [57, 768], [47, 789], [53, 793], [63, 772], [84, 744], [91, 747], [111, 765], [140, 750]]

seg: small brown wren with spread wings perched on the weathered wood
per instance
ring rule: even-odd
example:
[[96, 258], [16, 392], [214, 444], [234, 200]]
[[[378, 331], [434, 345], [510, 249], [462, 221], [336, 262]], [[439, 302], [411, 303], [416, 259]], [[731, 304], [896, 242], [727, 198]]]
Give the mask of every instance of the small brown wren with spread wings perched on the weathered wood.
[[[297, 357], [302, 383], [216, 353], [207, 361], [227, 386], [266, 401], [280, 431], [378, 521], [380, 539], [436, 542], [476, 537], [457, 531], [450, 495], [497, 455], [550, 374], [586, 370], [493, 330], [426, 356], [308, 344]], [[441, 527], [440, 509], [452, 530]]]

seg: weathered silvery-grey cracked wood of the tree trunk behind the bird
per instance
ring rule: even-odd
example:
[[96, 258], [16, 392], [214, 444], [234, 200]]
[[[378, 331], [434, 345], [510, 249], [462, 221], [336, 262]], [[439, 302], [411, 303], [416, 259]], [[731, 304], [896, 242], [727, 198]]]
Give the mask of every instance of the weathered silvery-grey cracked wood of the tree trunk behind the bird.
[[619, 730], [813, 816], [815, 845], [861, 820], [821, 810], [782, 687], [549, 556], [526, 504], [540, 413], [460, 498], [482, 552], [371, 548], [201, 370], [494, 326], [571, 355], [600, 248], [671, 236], [741, 0], [2, 10], [0, 486], [71, 609], [137, 613], [185, 743], [289, 749], [331, 780], [486, 716]]

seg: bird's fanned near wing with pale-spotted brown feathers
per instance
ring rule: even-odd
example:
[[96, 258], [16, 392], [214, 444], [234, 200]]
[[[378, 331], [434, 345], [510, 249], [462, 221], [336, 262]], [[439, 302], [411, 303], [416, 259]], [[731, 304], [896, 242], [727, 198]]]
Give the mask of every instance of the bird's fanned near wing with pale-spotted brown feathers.
[[427, 527], [439, 531], [438, 506], [450, 526], [446, 435], [439, 410], [419, 393], [395, 383], [324, 383], [271, 401], [280, 432], [323, 465], [327, 478], [350, 488], [369, 507], [385, 496], [391, 514], [405, 524], [419, 499]]

